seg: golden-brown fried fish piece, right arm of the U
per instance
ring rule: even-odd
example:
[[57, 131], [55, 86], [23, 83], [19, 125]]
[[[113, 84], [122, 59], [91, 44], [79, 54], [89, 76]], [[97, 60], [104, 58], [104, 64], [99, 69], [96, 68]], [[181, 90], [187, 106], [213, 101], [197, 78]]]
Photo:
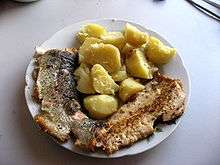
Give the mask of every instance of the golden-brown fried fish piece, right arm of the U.
[[145, 90], [135, 99], [123, 105], [107, 121], [94, 145], [112, 154], [130, 146], [154, 132], [154, 122], [161, 118], [167, 122], [184, 112], [185, 93], [179, 80], [157, 75], [146, 84]]

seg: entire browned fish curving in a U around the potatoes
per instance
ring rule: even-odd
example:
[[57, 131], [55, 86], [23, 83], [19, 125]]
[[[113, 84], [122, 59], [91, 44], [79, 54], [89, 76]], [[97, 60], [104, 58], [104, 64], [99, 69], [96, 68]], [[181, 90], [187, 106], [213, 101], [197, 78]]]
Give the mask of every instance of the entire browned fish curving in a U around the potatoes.
[[56, 49], [36, 58], [38, 72], [33, 95], [40, 100], [41, 111], [35, 121], [61, 142], [72, 133], [77, 146], [112, 154], [153, 134], [157, 119], [171, 121], [185, 110], [181, 82], [157, 74], [107, 121], [92, 120], [83, 113], [75, 88], [77, 58], [76, 50]]

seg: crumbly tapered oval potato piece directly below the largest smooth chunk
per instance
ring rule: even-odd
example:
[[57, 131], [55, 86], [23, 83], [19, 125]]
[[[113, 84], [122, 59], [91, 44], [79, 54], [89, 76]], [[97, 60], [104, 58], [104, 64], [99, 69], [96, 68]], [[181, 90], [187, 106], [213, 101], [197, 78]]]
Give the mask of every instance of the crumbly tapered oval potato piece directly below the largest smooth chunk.
[[95, 64], [91, 69], [93, 87], [101, 94], [114, 94], [119, 86], [100, 64]]

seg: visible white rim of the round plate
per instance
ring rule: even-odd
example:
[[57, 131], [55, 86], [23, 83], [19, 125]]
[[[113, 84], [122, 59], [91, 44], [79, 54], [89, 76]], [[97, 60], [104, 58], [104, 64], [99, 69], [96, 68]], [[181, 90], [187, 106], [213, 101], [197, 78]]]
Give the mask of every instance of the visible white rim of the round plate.
[[[98, 22], [102, 22], [102, 21], [116, 21], [116, 22], [123, 22], [123, 23], [130, 23], [132, 25], [135, 25], [135, 26], [138, 26], [138, 27], [141, 27], [142, 29], [145, 29], [146, 31], [150, 31], [151, 33], [153, 34], [156, 34], [157, 36], [159, 36], [160, 38], [162, 38], [163, 40], [165, 40], [169, 45], [172, 46], [172, 44], [170, 44], [169, 41], [167, 41], [163, 36], [161, 36], [158, 32], [152, 30], [152, 29], [148, 29], [146, 28], [145, 26], [139, 24], [139, 23], [136, 23], [136, 22], [133, 22], [133, 21], [130, 21], [130, 20], [126, 20], [126, 19], [115, 19], [115, 18], [104, 18], [104, 19], [88, 19], [88, 20], [83, 20], [83, 21], [79, 21], [79, 22], [75, 22], [73, 24], [70, 24], [70, 25], [67, 25], [65, 26], [64, 28], [58, 30], [57, 32], [55, 32], [54, 34], [51, 35], [51, 37], [49, 37], [47, 40], [45, 40], [42, 44], [42, 45], [45, 45], [49, 40], [52, 40], [53, 37], [55, 37], [56, 35], [58, 35], [59, 33], [62, 33], [63, 31], [65, 31], [66, 29], [70, 28], [71, 26], [82, 26], [83, 24], [87, 24], [87, 23], [98, 23]], [[44, 47], [44, 46], [43, 46]], [[189, 102], [190, 102], [190, 97], [191, 97], [191, 80], [190, 80], [190, 74], [186, 68], [186, 65], [184, 63], [184, 60], [182, 58], [182, 56], [180, 55], [179, 53], [179, 50], [178, 50], [178, 57], [180, 59], [180, 62], [182, 64], [182, 68], [184, 69], [184, 72], [186, 73], [186, 79], [187, 79], [187, 86], [188, 86], [188, 91], [187, 91], [187, 101], [186, 101], [186, 105], [185, 105], [185, 109], [186, 111], [184, 112], [184, 114], [178, 119], [178, 121], [176, 122], [175, 126], [171, 129], [171, 131], [166, 135], [164, 136], [163, 138], [161, 138], [161, 140], [155, 144], [155, 145], [152, 145], [151, 147], [148, 147], [146, 150], [141, 150], [141, 151], [136, 151], [136, 152], [131, 152], [131, 153], [128, 153], [128, 152], [124, 152], [123, 154], [119, 155], [119, 156], [111, 156], [111, 155], [106, 155], [106, 154], [96, 154], [96, 155], [93, 155], [93, 154], [88, 154], [86, 152], [83, 152], [83, 151], [77, 151], [77, 150], [71, 150], [70, 148], [67, 148], [66, 146], [63, 146], [63, 144], [60, 144], [58, 143], [58, 145], [60, 145], [61, 147], [71, 151], [71, 152], [74, 152], [76, 154], [80, 154], [80, 155], [83, 155], [83, 156], [88, 156], [88, 157], [93, 157], [93, 158], [103, 158], [103, 159], [109, 159], [109, 158], [119, 158], [119, 157], [124, 157], [124, 156], [131, 156], [131, 155], [136, 155], [136, 154], [140, 154], [140, 153], [143, 153], [143, 152], [146, 152], [146, 151], [149, 151], [151, 150], [152, 148], [156, 147], [157, 145], [161, 144], [165, 139], [167, 139], [171, 134], [173, 134], [173, 132], [176, 130], [176, 128], [179, 126], [182, 118], [185, 116], [185, 113], [187, 112], [187, 109], [188, 109], [188, 106], [189, 106]], [[27, 66], [27, 69], [26, 69], [26, 72], [25, 72], [25, 89], [24, 89], [24, 92], [25, 92], [25, 100], [26, 100], [26, 104], [28, 106], [28, 110], [32, 116], [32, 118], [34, 118], [34, 116], [32, 115], [31, 113], [31, 107], [30, 107], [30, 104], [28, 103], [28, 71], [29, 71], [29, 67], [31, 67], [31, 63], [33, 62], [33, 58], [31, 58], [31, 61], [30, 63], [28, 64]], [[34, 122], [34, 121], [33, 121]], [[51, 138], [52, 139], [52, 138]], [[141, 141], [141, 140], [140, 140]], [[132, 146], [131, 146], [132, 147]]]

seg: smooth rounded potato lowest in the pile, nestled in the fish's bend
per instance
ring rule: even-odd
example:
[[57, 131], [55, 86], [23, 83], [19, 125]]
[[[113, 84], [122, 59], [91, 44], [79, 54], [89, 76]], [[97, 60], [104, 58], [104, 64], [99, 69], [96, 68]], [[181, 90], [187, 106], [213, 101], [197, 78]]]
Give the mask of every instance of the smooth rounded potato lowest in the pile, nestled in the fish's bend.
[[118, 100], [109, 95], [94, 95], [84, 98], [84, 106], [91, 117], [104, 119], [118, 109]]

